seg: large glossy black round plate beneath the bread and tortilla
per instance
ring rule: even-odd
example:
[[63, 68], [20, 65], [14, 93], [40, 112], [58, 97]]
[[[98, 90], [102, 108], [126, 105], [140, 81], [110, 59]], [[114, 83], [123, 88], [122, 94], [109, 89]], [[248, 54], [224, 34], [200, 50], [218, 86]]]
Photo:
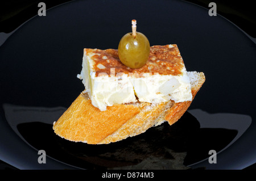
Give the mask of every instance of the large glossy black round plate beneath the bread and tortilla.
[[[53, 121], [84, 88], [76, 78], [83, 48], [116, 49], [131, 19], [151, 45], [177, 44], [187, 70], [205, 73], [191, 107], [172, 127], [110, 145], [55, 136]], [[0, 159], [18, 169], [243, 169], [256, 161], [255, 57], [245, 33], [191, 3], [57, 6], [24, 23], [0, 47]], [[38, 150], [46, 151], [46, 164], [38, 163]], [[217, 163], [209, 163], [209, 150], [217, 151]]]

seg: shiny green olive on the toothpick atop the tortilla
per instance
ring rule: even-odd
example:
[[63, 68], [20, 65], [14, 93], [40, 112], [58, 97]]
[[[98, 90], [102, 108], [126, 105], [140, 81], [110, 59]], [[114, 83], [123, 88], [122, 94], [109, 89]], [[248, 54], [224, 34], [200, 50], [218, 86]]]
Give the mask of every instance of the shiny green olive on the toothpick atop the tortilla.
[[150, 43], [145, 35], [136, 32], [127, 33], [118, 45], [118, 56], [123, 64], [132, 69], [141, 68], [146, 64], [150, 54]]

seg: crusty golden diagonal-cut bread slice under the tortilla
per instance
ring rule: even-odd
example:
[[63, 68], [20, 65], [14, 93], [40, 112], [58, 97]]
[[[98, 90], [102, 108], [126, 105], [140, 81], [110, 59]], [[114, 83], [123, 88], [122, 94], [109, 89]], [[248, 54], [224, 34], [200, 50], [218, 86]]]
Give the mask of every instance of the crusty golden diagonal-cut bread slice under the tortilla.
[[[204, 73], [188, 71], [193, 98], [205, 82]], [[67, 111], [53, 123], [54, 132], [69, 141], [109, 144], [136, 136], [168, 121], [174, 124], [192, 101], [175, 103], [115, 104], [106, 111], [94, 107], [88, 94], [81, 93]]]

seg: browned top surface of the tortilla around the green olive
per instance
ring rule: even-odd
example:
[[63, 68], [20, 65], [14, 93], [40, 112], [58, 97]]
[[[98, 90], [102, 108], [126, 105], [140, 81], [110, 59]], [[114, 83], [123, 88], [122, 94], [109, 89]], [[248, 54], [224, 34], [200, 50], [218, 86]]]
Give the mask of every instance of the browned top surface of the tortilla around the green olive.
[[148, 61], [146, 65], [139, 69], [131, 69], [122, 64], [118, 57], [118, 50], [116, 49], [101, 50], [85, 48], [84, 52], [94, 62], [93, 71], [96, 72], [96, 77], [100, 73], [110, 75], [110, 69], [112, 68], [115, 68], [115, 75], [117, 75], [117, 73], [158, 73], [160, 75], [181, 75], [181, 70], [184, 68], [184, 62], [180, 56], [177, 45], [174, 44], [172, 46], [172, 48], [169, 48], [169, 45], [155, 45], [150, 47], [150, 56], [148, 57]]

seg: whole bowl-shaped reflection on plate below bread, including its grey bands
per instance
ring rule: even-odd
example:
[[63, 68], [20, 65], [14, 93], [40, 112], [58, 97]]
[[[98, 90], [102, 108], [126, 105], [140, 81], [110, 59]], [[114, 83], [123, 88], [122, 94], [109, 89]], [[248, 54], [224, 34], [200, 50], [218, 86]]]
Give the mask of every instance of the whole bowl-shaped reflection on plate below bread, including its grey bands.
[[126, 140], [89, 145], [65, 140], [53, 132], [52, 123], [65, 111], [63, 107], [5, 104], [4, 108], [7, 121], [28, 145], [81, 169], [190, 169], [208, 159], [209, 150], [220, 153], [228, 148], [250, 125], [246, 115], [191, 110], [174, 125], [166, 122]]

